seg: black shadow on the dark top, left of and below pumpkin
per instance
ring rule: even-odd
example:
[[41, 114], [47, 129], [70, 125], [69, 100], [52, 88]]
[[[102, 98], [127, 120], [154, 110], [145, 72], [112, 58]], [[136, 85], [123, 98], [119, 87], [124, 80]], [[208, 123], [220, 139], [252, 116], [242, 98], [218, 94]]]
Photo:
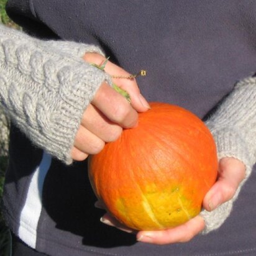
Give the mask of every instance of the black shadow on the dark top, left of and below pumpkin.
[[[88, 179], [88, 162], [70, 167], [53, 160], [45, 179], [43, 204], [57, 229], [83, 237], [83, 244], [96, 247], [132, 245], [134, 234], [119, 231], [99, 221], [105, 213], [94, 207], [96, 196]], [[40, 225], [40, 223], [39, 223]], [[53, 223], [49, 223], [53, 225]]]

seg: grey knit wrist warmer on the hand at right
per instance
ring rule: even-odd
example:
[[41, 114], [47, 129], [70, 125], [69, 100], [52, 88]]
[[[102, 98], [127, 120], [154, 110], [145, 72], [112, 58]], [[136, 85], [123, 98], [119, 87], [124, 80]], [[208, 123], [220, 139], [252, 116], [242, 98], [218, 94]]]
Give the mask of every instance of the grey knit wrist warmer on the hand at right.
[[206, 222], [204, 234], [217, 229], [227, 219], [256, 162], [256, 78], [246, 78], [237, 83], [206, 125], [216, 140], [218, 158], [235, 157], [245, 164], [246, 171], [245, 179], [231, 200], [212, 212], [201, 212]]

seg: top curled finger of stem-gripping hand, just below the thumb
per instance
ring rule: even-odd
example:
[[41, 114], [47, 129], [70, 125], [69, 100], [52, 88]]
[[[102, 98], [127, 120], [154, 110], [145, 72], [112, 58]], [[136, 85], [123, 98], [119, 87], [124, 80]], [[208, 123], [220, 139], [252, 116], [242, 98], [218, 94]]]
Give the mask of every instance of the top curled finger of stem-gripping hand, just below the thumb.
[[91, 103], [110, 121], [121, 127], [132, 128], [137, 125], [137, 111], [121, 94], [114, 91], [106, 83], [100, 86]]

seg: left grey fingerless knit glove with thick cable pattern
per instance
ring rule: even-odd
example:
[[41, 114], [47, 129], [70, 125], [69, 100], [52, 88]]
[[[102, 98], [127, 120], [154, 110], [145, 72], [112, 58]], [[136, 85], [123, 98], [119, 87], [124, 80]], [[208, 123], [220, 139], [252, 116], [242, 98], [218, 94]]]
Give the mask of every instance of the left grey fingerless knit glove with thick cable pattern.
[[42, 41], [0, 26], [0, 102], [38, 147], [70, 164], [81, 116], [104, 80], [86, 63], [101, 50], [75, 42]]

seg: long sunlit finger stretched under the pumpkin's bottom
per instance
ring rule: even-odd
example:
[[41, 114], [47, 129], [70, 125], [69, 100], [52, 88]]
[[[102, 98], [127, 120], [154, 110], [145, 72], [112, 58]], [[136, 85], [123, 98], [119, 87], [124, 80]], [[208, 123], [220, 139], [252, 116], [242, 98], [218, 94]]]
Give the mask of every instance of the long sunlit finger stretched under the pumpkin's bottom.
[[196, 216], [181, 226], [164, 231], [140, 231], [137, 240], [150, 244], [173, 244], [176, 242], [188, 242], [204, 229], [204, 220], [201, 216]]

